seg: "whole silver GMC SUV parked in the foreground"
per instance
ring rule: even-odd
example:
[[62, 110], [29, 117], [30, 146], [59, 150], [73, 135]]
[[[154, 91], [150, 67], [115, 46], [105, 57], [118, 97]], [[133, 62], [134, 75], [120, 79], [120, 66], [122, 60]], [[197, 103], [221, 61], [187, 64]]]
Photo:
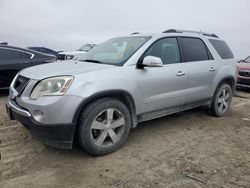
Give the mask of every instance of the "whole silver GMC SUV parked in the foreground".
[[139, 122], [198, 106], [229, 109], [236, 60], [214, 34], [167, 30], [110, 39], [78, 60], [27, 68], [7, 111], [44, 143], [104, 155]]

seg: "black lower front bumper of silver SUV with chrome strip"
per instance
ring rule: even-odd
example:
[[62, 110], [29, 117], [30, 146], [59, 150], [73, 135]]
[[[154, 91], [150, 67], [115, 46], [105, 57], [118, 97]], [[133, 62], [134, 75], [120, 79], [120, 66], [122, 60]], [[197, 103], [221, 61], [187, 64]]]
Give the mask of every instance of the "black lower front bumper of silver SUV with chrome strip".
[[42, 124], [37, 122], [30, 112], [18, 106], [8, 98], [6, 109], [10, 119], [21, 122], [30, 132], [43, 143], [55, 148], [71, 149], [73, 146], [75, 123]]

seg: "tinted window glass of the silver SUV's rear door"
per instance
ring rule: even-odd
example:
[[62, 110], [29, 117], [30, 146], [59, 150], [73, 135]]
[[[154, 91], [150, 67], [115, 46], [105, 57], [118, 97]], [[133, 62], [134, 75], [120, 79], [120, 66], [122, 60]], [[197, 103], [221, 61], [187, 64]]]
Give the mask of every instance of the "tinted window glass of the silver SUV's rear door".
[[183, 55], [186, 62], [209, 60], [206, 45], [198, 38], [181, 38]]

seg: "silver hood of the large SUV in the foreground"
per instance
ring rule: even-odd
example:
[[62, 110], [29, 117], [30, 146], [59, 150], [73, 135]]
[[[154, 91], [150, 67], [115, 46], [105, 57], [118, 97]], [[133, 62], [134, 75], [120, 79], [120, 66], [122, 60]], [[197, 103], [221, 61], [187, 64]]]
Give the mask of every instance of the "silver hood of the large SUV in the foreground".
[[29, 67], [23, 69], [19, 74], [27, 78], [41, 80], [53, 76], [74, 76], [81, 73], [88, 73], [110, 68], [115, 68], [115, 66], [82, 61], [64, 61]]

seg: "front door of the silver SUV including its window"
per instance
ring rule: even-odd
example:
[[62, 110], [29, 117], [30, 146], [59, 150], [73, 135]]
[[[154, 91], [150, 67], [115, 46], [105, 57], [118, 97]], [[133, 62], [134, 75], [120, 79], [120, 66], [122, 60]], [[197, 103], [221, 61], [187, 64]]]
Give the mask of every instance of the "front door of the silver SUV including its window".
[[156, 41], [144, 53], [143, 57], [146, 56], [161, 58], [164, 66], [139, 70], [138, 85], [144, 97], [144, 113], [155, 112], [153, 116], [160, 116], [181, 110], [186, 98], [187, 74], [177, 39], [171, 37]]

